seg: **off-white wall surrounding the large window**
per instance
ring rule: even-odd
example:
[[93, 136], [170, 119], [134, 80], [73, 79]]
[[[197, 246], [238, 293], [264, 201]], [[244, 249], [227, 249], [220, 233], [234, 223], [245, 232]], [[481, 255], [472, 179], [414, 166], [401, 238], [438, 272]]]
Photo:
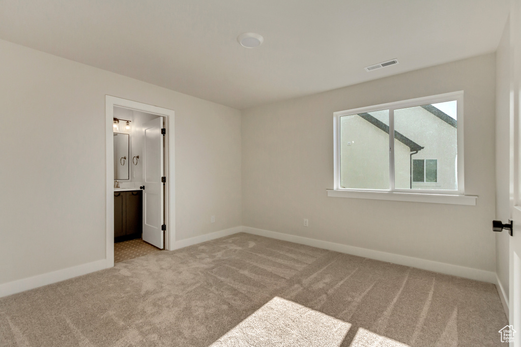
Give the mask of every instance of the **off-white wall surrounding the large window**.
[[[334, 111], [461, 90], [476, 206], [327, 197]], [[243, 225], [493, 272], [494, 113], [495, 54], [245, 110]]]

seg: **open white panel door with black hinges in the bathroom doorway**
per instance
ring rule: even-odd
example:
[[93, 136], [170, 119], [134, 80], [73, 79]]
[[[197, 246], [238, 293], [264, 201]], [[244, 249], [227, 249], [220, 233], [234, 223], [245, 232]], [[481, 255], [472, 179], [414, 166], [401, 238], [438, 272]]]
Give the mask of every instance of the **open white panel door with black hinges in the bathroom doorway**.
[[159, 117], [144, 125], [145, 140], [143, 148], [143, 240], [158, 248], [164, 248], [164, 176], [163, 163], [163, 118]]

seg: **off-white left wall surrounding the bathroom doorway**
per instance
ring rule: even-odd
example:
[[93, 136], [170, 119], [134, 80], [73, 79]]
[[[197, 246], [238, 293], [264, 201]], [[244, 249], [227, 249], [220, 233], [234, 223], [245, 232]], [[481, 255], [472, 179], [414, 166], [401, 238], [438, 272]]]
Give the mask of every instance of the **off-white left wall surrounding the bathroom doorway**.
[[240, 111], [6, 41], [0, 76], [0, 284], [105, 259], [106, 94], [176, 111], [177, 240], [241, 225]]

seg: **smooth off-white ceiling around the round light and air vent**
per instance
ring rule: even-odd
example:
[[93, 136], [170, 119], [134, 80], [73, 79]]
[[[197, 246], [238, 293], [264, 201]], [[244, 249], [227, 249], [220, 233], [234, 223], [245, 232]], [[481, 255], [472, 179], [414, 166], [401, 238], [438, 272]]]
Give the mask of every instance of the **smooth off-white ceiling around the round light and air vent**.
[[243, 109], [494, 52], [507, 15], [508, 0], [0, 0], [0, 38]]

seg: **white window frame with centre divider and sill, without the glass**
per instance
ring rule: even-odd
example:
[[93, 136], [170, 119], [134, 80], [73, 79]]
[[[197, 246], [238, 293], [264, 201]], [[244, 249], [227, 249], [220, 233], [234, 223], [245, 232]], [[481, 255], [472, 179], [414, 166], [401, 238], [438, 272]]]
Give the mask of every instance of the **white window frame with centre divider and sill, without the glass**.
[[[457, 190], [434, 189], [396, 189], [394, 187], [394, 110], [439, 102], [457, 101]], [[389, 189], [354, 189], [341, 188], [340, 185], [340, 118], [364, 112], [389, 110]], [[389, 102], [375, 106], [356, 108], [333, 113], [333, 156], [334, 156], [334, 189], [328, 189], [330, 197], [365, 198], [379, 200], [400, 200], [415, 202], [437, 202], [475, 205], [476, 196], [465, 195], [465, 150], [464, 150], [464, 115], [463, 91], [445, 93], [403, 101]]]

